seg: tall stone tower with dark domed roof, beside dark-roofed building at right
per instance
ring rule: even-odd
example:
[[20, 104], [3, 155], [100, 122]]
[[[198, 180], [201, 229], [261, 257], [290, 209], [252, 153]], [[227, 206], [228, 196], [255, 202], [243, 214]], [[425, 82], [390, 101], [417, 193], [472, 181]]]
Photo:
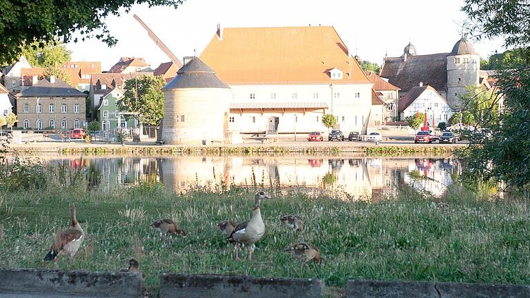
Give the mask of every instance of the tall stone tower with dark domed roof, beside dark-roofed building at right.
[[459, 110], [460, 96], [467, 93], [467, 86], [476, 86], [480, 79], [480, 55], [473, 45], [462, 37], [447, 55], [447, 95], [451, 107]]

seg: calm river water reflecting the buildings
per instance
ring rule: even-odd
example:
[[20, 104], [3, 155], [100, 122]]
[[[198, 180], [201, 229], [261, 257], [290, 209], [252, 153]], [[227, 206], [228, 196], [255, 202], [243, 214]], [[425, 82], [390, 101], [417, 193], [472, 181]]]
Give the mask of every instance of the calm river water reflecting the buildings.
[[304, 191], [333, 190], [364, 199], [395, 195], [404, 184], [440, 196], [460, 174], [458, 161], [451, 157], [57, 155], [41, 159], [80, 170], [97, 188], [149, 182], [181, 192], [197, 185], [273, 184]]

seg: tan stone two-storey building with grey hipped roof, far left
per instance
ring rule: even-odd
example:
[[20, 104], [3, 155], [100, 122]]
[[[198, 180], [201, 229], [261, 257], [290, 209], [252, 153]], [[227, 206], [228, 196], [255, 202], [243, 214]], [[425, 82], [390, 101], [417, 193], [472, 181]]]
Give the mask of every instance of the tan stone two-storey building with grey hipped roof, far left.
[[83, 128], [86, 123], [86, 94], [53, 76], [15, 96], [18, 126], [24, 129], [69, 130]]

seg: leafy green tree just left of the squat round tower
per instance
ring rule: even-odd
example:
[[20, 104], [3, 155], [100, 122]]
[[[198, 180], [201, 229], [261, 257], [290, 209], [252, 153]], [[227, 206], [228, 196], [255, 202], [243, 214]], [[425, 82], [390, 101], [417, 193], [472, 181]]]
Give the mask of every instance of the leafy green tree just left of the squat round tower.
[[164, 94], [162, 77], [139, 77], [125, 82], [124, 97], [116, 102], [121, 112], [139, 113], [139, 121], [158, 126], [164, 116]]

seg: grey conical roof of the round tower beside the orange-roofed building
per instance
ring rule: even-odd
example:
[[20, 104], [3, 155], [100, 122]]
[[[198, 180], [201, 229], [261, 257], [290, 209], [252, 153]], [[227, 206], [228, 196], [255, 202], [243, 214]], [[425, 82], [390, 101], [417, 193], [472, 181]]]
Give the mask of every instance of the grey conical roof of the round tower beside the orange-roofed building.
[[230, 88], [221, 81], [215, 71], [198, 57], [193, 57], [186, 65], [177, 71], [173, 78], [162, 90], [181, 88]]

